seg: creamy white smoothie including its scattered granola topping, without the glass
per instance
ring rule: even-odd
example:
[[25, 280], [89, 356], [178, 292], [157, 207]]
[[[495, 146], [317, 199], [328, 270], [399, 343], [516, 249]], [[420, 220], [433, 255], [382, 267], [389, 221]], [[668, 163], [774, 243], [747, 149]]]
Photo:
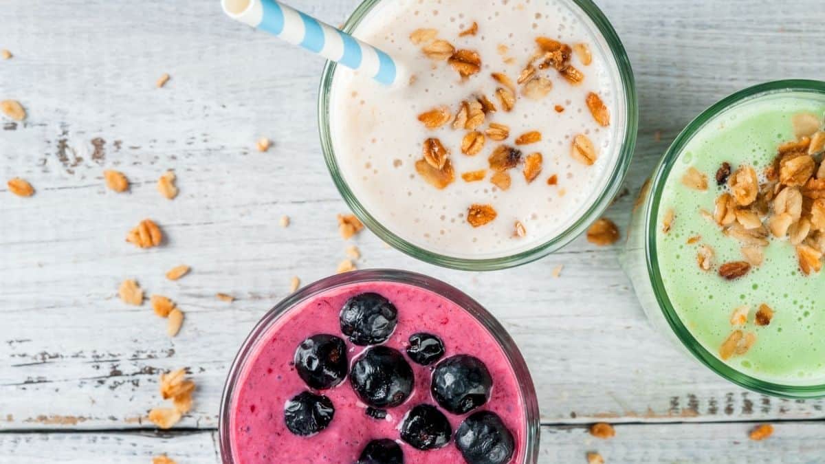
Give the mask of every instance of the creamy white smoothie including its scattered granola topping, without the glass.
[[511, 256], [568, 230], [621, 178], [619, 68], [572, 1], [384, 1], [354, 34], [404, 78], [384, 88], [337, 68], [332, 148], [352, 195], [400, 239]]

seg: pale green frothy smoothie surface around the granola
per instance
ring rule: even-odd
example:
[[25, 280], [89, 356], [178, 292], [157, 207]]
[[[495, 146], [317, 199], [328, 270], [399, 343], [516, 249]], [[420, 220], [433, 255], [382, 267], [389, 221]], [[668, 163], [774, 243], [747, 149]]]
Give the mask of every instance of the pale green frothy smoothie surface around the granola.
[[[723, 233], [700, 210], [714, 212], [714, 201], [728, 190], [717, 186], [714, 173], [727, 162], [733, 170], [750, 165], [766, 182], [765, 170], [778, 145], [795, 140], [793, 118], [801, 113], [825, 117], [825, 96], [815, 92], [776, 92], [743, 102], [710, 120], [686, 145], [673, 164], [662, 189], [657, 220], [656, 253], [662, 283], [676, 315], [710, 353], [735, 329], [734, 310], [747, 306], [745, 332], [756, 336], [747, 353], [724, 360], [733, 369], [762, 381], [788, 386], [825, 383], [825, 276], [800, 270], [794, 245], [768, 237], [764, 262], [744, 277], [725, 280], [722, 263], [742, 262], [742, 244]], [[705, 192], [687, 187], [682, 177], [689, 168], [708, 176]], [[667, 211], [675, 212], [670, 231], [662, 231]], [[773, 210], [771, 210], [773, 211]], [[774, 214], [771, 212], [771, 214]], [[692, 239], [691, 239], [692, 238]], [[708, 246], [714, 268], [703, 270], [697, 252]], [[774, 311], [770, 323], [754, 323], [765, 304]]]

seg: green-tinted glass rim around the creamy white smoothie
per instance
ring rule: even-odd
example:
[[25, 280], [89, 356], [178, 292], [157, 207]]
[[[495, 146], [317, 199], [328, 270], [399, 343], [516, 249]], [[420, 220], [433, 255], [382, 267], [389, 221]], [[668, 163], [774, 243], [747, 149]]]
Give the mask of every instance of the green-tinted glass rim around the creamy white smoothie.
[[[356, 7], [351, 16], [344, 23], [343, 31], [352, 32], [356, 26], [361, 23], [367, 13], [380, 2], [388, 0], [364, 0]], [[619, 71], [620, 83], [622, 85], [622, 96], [625, 98], [625, 131], [622, 134], [622, 144], [616, 148], [618, 159], [610, 178], [606, 182], [605, 187], [601, 192], [595, 196], [592, 205], [584, 211], [583, 214], [573, 224], [569, 225], [567, 229], [557, 234], [552, 239], [539, 244], [532, 249], [527, 249], [518, 253], [498, 258], [457, 258], [446, 254], [436, 253], [424, 249], [416, 244], [410, 243], [408, 240], [402, 239], [397, 234], [394, 234], [387, 227], [380, 224], [378, 220], [370, 215], [370, 212], [361, 205], [356, 196], [352, 193], [347, 182], [344, 180], [340, 169], [338, 168], [337, 160], [335, 158], [335, 150], [332, 147], [332, 135], [330, 133], [329, 122], [329, 93], [332, 89], [332, 79], [335, 75], [337, 65], [332, 61], [328, 61], [324, 66], [321, 83], [318, 90], [318, 131], [321, 138], [321, 148], [323, 149], [323, 157], [327, 163], [327, 168], [332, 176], [332, 182], [338, 189], [338, 192], [347, 202], [347, 206], [351, 211], [385, 243], [391, 245], [394, 249], [398, 249], [403, 253], [420, 259], [426, 263], [436, 264], [444, 268], [452, 268], [464, 271], [493, 271], [497, 269], [512, 268], [522, 264], [531, 263], [537, 259], [544, 258], [550, 253], [561, 249], [564, 245], [569, 244], [582, 234], [589, 225], [592, 224], [604, 211], [610, 206], [613, 198], [619, 192], [620, 187], [625, 181], [630, 161], [633, 158], [634, 149], [636, 146], [636, 136], [639, 125], [639, 104], [636, 96], [635, 80], [633, 69], [630, 66], [630, 60], [622, 45], [619, 36], [616, 34], [610, 21], [607, 20], [604, 13], [592, 0], [567, 0], [573, 2], [582, 9], [582, 12], [593, 21], [596, 29], [601, 36], [604, 37], [610, 53], [615, 60], [616, 68]]]

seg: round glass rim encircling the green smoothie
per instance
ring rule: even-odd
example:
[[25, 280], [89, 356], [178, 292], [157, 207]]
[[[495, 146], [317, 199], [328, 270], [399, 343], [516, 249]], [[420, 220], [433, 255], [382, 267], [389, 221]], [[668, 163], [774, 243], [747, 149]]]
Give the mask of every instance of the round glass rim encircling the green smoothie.
[[793, 399], [817, 398], [825, 396], [825, 384], [795, 386], [761, 380], [757, 377], [739, 372], [721, 361], [713, 353], [710, 353], [707, 348], [695, 339], [690, 329], [687, 329], [686, 325], [681, 322], [681, 319], [676, 314], [676, 310], [673, 308], [672, 302], [669, 296], [667, 296], [667, 291], [662, 282], [662, 273], [658, 268], [656, 234], [658, 232], [657, 218], [662, 190], [681, 151], [686, 148], [686, 145], [691, 142], [700, 130], [705, 128], [705, 125], [709, 124], [709, 122], [713, 121], [714, 118], [723, 114], [725, 111], [757, 98], [781, 92], [813, 92], [825, 95], [825, 82], [807, 79], [785, 79], [761, 83], [742, 89], [714, 103], [714, 105], [708, 107], [705, 111], [702, 111], [699, 116], [696, 116], [695, 119], [676, 136], [676, 139], [673, 140], [673, 143], [667, 149], [664, 156], [662, 156], [662, 159], [654, 170], [653, 179], [650, 184], [650, 192], [648, 193], [650, 201], [648, 201], [647, 210], [645, 211], [643, 229], [646, 234], [644, 247], [645, 261], [650, 283], [651, 286], [653, 286], [653, 294], [656, 296], [656, 301], [659, 309], [662, 310], [662, 315], [665, 320], [667, 320], [667, 324], [670, 325], [676, 338], [681, 341], [685, 348], [697, 358], [699, 362], [728, 381], [732, 381], [738, 386], [756, 391], [757, 393]]

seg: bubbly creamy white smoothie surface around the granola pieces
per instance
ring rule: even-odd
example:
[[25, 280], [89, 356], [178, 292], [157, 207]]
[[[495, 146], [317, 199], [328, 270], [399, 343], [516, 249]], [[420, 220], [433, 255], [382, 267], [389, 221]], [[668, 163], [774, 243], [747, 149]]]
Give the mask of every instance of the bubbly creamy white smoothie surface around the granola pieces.
[[[475, 34], [460, 36], [477, 25]], [[479, 54], [481, 69], [468, 78], [447, 63], [430, 59], [426, 43], [413, 44], [413, 31], [437, 31], [456, 50]], [[330, 125], [332, 147], [342, 177], [357, 201], [381, 225], [422, 249], [455, 258], [500, 258], [533, 249], [567, 230], [593, 205], [614, 172], [625, 131], [624, 92], [609, 46], [587, 15], [573, 2], [476, 2], [474, 0], [398, 0], [380, 2], [356, 27], [354, 35], [392, 54], [403, 63], [413, 82], [382, 88], [370, 78], [338, 67], [332, 80]], [[535, 54], [536, 38], [544, 36], [571, 46], [587, 45], [592, 62], [573, 54], [571, 63], [584, 74], [578, 85], [553, 69], [546, 97], [526, 97], [516, 86], [512, 111], [496, 97], [502, 88], [491, 77], [504, 73], [515, 83]], [[544, 75], [544, 74], [542, 74]], [[587, 95], [601, 97], [610, 112], [610, 125], [601, 126], [587, 107]], [[435, 130], [418, 116], [446, 107], [455, 116], [460, 103], [483, 95], [497, 107], [477, 131], [490, 123], [507, 125], [505, 140], [487, 136], [477, 154], [462, 153], [464, 136], [453, 120]], [[517, 145], [516, 138], [539, 131], [541, 140]], [[592, 166], [571, 156], [577, 134], [592, 140], [598, 158]], [[438, 138], [449, 150], [455, 181], [442, 190], [417, 173], [422, 145]], [[523, 159], [541, 154], [541, 171], [528, 182], [523, 161], [509, 170], [512, 181], [504, 190], [493, 185], [488, 157], [499, 146], [521, 150]], [[469, 182], [464, 173], [484, 170]], [[550, 178], [554, 178], [549, 182]], [[495, 220], [474, 227], [468, 221], [473, 204], [489, 205]], [[514, 236], [520, 222], [524, 236]]]

